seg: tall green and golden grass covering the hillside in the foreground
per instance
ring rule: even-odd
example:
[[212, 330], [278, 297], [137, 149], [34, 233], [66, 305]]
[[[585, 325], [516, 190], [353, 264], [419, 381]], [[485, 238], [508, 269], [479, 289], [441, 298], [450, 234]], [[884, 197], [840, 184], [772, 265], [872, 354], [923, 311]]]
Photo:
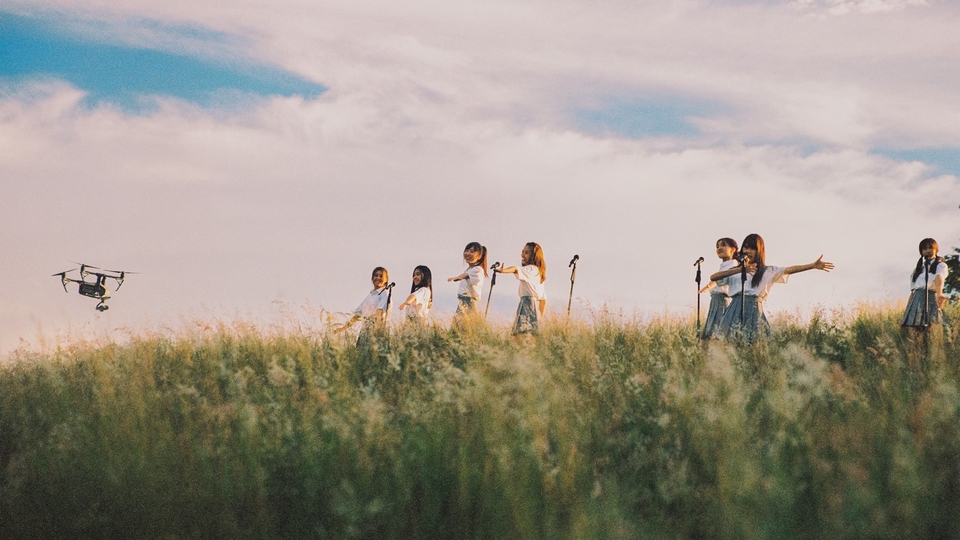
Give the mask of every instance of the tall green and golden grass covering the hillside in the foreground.
[[743, 348], [601, 314], [19, 351], [0, 538], [957, 538], [948, 313], [929, 353], [879, 307]]

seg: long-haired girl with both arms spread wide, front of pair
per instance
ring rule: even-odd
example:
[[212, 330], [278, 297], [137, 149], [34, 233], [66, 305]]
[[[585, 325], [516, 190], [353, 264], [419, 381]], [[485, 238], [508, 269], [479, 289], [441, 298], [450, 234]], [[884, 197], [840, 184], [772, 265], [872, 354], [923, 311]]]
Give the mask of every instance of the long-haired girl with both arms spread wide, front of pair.
[[833, 263], [824, 261], [823, 255], [810, 264], [767, 266], [766, 248], [759, 234], [747, 235], [740, 250], [743, 257], [737, 268], [710, 276], [711, 281], [718, 283], [721, 279], [731, 278], [729, 291], [732, 300], [720, 321], [719, 331], [726, 339], [742, 338], [749, 343], [761, 333], [770, 331], [770, 323], [763, 313], [763, 301], [774, 283], [786, 283], [790, 274], [807, 270], [833, 270]]

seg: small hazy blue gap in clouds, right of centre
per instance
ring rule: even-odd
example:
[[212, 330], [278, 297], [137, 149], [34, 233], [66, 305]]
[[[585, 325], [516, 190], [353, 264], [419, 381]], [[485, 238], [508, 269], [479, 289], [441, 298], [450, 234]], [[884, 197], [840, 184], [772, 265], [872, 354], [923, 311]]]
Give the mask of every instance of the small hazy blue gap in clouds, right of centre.
[[721, 109], [716, 103], [682, 96], [611, 98], [598, 106], [574, 112], [574, 124], [586, 133], [628, 138], [692, 137], [700, 130], [690, 119], [711, 116]]

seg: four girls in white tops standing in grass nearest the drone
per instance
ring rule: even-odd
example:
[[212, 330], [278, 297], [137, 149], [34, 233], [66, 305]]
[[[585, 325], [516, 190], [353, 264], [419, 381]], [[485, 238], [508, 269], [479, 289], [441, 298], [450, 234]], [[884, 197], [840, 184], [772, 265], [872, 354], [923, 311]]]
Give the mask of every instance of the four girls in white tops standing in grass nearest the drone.
[[[450, 283], [459, 282], [457, 290], [457, 312], [455, 320], [464, 320], [479, 315], [480, 298], [487, 274], [487, 248], [479, 242], [470, 242], [463, 249], [463, 262], [467, 269], [459, 275], [447, 278]], [[513, 323], [514, 334], [539, 333], [539, 320], [546, 310], [547, 295], [544, 283], [547, 280], [547, 264], [543, 258], [543, 249], [536, 242], [528, 242], [520, 252], [520, 266], [505, 266], [494, 269], [501, 274], [513, 274], [519, 281], [518, 294], [520, 304]], [[346, 330], [353, 323], [363, 321], [358, 344], [367, 342], [372, 332], [382, 326], [389, 310], [391, 297], [390, 276], [387, 269], [378, 266], [370, 276], [373, 290], [354, 310], [353, 317], [341, 327]], [[433, 274], [426, 266], [417, 266], [413, 270], [413, 283], [410, 295], [397, 306], [405, 311], [407, 320], [422, 322], [433, 307]]]

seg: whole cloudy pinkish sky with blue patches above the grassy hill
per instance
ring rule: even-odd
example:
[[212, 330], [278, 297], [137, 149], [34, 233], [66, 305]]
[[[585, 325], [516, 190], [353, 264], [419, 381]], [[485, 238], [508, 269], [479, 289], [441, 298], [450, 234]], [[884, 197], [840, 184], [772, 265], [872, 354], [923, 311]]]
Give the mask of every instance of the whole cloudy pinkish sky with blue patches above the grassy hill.
[[[578, 254], [576, 317], [695, 317], [693, 262], [749, 233], [836, 264], [773, 316], [903, 302], [922, 238], [960, 246], [957, 28], [947, 0], [0, 0], [0, 354], [310, 324], [378, 265], [429, 266], [443, 317], [472, 241], [540, 243], [556, 316]], [[139, 274], [98, 313], [71, 261]]]

